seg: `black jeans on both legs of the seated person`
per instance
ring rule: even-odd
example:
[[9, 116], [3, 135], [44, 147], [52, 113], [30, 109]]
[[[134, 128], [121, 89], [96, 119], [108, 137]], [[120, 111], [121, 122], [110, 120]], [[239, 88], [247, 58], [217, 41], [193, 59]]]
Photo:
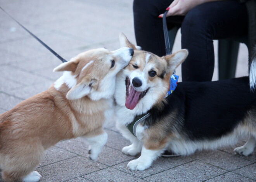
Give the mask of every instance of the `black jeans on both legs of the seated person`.
[[[173, 0], [134, 0], [133, 15], [137, 45], [163, 56], [165, 53], [162, 19], [158, 18]], [[183, 81], [211, 81], [214, 70], [214, 39], [248, 34], [247, 10], [236, 0], [204, 3], [184, 16], [167, 17], [168, 27], [181, 24], [182, 49], [189, 56], [182, 64]]]

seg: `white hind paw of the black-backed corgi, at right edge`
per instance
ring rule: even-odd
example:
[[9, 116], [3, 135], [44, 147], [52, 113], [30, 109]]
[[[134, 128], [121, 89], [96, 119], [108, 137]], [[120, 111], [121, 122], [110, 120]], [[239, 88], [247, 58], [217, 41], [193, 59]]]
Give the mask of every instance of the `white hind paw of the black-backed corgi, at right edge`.
[[246, 144], [235, 148], [234, 151], [240, 155], [248, 156], [254, 152], [255, 147], [256, 147], [256, 138], [251, 135], [248, 141], [246, 142]]

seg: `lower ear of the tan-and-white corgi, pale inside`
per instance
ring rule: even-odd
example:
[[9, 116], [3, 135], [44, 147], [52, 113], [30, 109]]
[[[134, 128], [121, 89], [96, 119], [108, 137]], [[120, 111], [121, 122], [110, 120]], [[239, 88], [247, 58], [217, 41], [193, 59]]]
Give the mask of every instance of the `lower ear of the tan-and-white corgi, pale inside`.
[[96, 90], [98, 84], [99, 82], [97, 79], [85, 77], [80, 83], [78, 83], [76, 86], [71, 88], [69, 92], [67, 92], [66, 97], [69, 100], [80, 99]]

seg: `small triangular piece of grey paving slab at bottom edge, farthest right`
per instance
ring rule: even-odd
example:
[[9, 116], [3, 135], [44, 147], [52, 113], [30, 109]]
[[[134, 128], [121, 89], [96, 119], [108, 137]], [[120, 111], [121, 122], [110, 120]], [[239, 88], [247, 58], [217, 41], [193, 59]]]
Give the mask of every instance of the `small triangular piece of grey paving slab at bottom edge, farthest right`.
[[228, 182], [228, 181], [232, 181], [232, 182], [255, 182], [254, 180], [252, 179], [249, 179], [249, 178], [246, 178], [246, 177], [243, 177], [241, 175], [237, 175], [235, 173], [232, 173], [232, 172], [228, 172], [228, 173], [225, 173], [223, 175], [220, 175], [218, 177], [215, 177], [213, 179], [210, 179], [210, 180], [206, 180], [205, 182], [216, 182], [216, 181], [221, 181], [221, 182]]

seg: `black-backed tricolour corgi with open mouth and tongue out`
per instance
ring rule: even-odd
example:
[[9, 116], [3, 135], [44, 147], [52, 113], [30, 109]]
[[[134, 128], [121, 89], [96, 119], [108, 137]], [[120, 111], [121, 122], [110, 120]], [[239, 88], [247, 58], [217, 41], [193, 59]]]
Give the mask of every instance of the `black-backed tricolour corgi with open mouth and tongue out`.
[[[169, 79], [188, 55], [186, 49], [163, 57], [137, 50], [124, 34], [121, 46], [134, 49], [126, 68], [117, 75], [116, 126], [131, 141], [122, 152], [140, 156], [128, 163], [130, 170], [145, 170], [164, 151], [190, 155], [235, 144], [248, 136], [244, 146], [235, 149], [250, 155], [256, 146], [256, 93], [249, 78], [216, 82], [180, 82], [165, 98]], [[142, 119], [136, 122], [136, 118]], [[129, 126], [135, 122], [132, 131]]]

